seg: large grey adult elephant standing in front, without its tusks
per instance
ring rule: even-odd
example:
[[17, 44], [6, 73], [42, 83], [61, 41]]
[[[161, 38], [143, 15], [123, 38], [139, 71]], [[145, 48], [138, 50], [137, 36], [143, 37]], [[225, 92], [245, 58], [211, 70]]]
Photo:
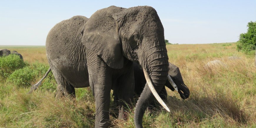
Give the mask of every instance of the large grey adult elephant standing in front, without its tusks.
[[[168, 74], [164, 28], [149, 6], [110, 6], [90, 19], [74, 16], [61, 21], [47, 36], [46, 56], [58, 96], [75, 97], [75, 87], [90, 85], [96, 104], [95, 127], [109, 126], [111, 89], [118, 90], [119, 119], [124, 117], [124, 102], [130, 104], [134, 94], [132, 61], [149, 73], [158, 93]], [[144, 111], [153, 99], [145, 86], [135, 107], [136, 127], [142, 127]]]

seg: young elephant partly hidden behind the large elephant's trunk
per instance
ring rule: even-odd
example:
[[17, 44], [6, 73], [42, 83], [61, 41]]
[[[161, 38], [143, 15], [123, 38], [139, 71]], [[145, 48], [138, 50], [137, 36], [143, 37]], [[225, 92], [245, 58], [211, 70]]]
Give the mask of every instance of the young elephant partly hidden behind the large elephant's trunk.
[[[135, 81], [134, 92], [135, 94], [140, 95], [145, 87], [146, 79], [145, 79], [143, 70], [141, 69], [139, 64], [133, 63], [133, 69], [134, 69], [134, 81]], [[168, 74], [172, 78], [173, 82], [177, 85], [180, 97], [182, 99], [187, 99], [189, 97], [190, 92], [188, 87], [184, 84], [182, 75], [179, 71], [179, 67], [169, 63]], [[171, 89], [172, 91], [174, 91], [174, 88], [172, 87], [172, 85], [168, 80], [166, 80], [164, 85], [169, 89]], [[167, 99], [167, 92], [166, 92], [165, 86], [162, 88], [161, 92], [159, 93], [159, 96], [162, 99]]]

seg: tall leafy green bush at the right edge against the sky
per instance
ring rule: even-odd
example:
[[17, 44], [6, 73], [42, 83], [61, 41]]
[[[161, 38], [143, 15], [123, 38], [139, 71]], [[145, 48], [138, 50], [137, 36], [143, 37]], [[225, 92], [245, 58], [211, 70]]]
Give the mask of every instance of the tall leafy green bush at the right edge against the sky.
[[249, 22], [247, 27], [247, 33], [240, 34], [237, 50], [245, 54], [254, 54], [254, 50], [256, 50], [256, 22]]

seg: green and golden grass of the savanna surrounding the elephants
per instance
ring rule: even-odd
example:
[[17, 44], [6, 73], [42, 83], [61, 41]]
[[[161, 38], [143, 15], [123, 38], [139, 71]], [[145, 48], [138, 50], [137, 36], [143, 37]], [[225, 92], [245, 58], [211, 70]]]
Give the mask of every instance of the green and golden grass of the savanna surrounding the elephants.
[[[30, 84], [36, 83], [49, 67], [44, 46], [2, 48], [23, 55], [27, 70], [36, 72]], [[144, 127], [256, 127], [254, 56], [237, 52], [235, 43], [167, 45], [167, 50], [169, 62], [179, 67], [190, 96], [183, 100], [167, 89], [171, 112], [162, 108], [146, 111]], [[204, 67], [212, 60], [226, 66]], [[52, 74], [33, 94], [26, 94], [29, 84], [19, 86], [11, 79], [15, 78], [2, 78], [0, 82], [0, 127], [94, 127], [95, 104], [90, 88], [76, 89], [75, 101], [56, 99]], [[134, 127], [133, 112], [128, 112], [126, 121], [111, 116], [112, 127]]]

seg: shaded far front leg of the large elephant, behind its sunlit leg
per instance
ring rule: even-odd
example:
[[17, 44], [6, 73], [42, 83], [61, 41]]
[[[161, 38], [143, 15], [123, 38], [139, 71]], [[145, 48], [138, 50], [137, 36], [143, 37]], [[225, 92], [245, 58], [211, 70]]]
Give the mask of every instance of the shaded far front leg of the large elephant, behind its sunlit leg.
[[134, 74], [133, 67], [127, 74], [119, 78], [119, 89], [116, 91], [118, 94], [118, 119], [126, 119], [128, 110], [131, 106], [134, 97]]

